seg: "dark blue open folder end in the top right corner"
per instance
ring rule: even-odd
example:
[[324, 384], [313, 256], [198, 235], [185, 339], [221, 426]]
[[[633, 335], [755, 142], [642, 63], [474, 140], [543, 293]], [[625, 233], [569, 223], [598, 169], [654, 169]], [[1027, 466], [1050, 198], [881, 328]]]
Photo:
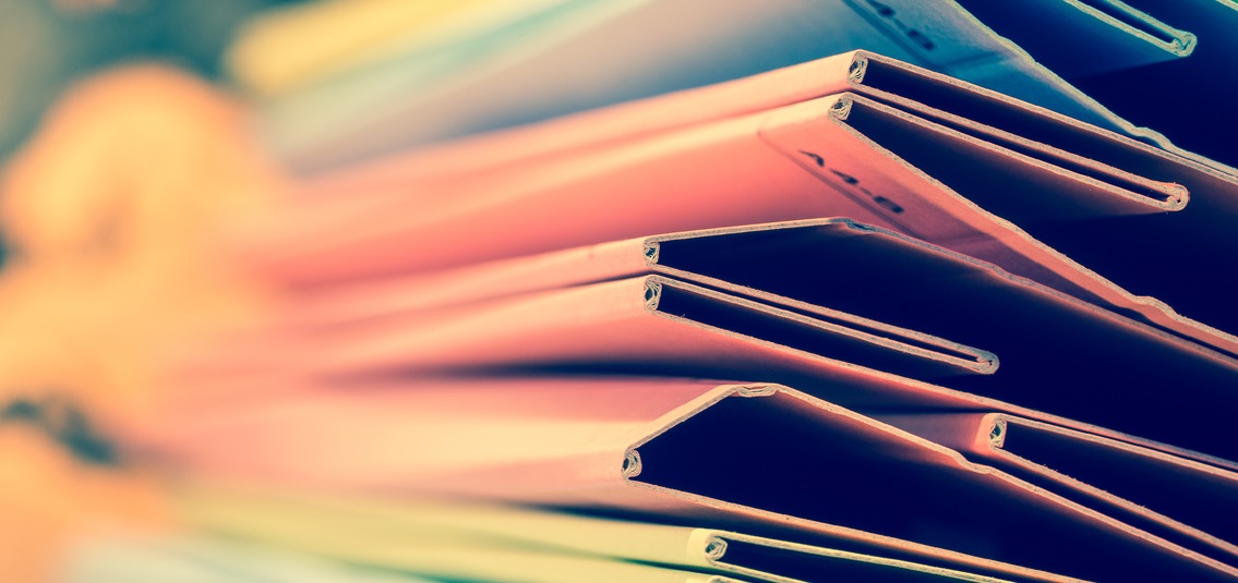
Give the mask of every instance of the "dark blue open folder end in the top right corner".
[[[969, 36], [977, 36], [984, 38], [982, 45], [994, 43], [1009, 51], [1004, 58], [998, 59], [972, 53], [979, 58], [963, 62], [957, 68], [943, 68], [933, 51], [906, 43], [916, 50], [916, 57], [921, 62], [930, 63], [926, 64], [928, 68], [1233, 172], [1227, 166], [1233, 163], [1228, 153], [1223, 156], [1227, 160], [1219, 161], [1205, 156], [1221, 153], [1223, 149], [1212, 147], [1208, 152], [1201, 152], [1203, 155], [1190, 150], [1206, 142], [1200, 142], [1188, 131], [1180, 131], [1176, 121], [1190, 119], [1195, 111], [1166, 111], [1138, 97], [1138, 92], [1149, 87], [1181, 87], [1193, 101], [1208, 104], [1198, 113], [1232, 119], [1223, 106], [1216, 106], [1224, 101], [1210, 95], [1214, 89], [1229, 92], [1224, 88], [1223, 79], [1211, 77], [1217, 72], [1214, 67], [1223, 67], [1223, 59], [1233, 52], [1228, 28], [1238, 19], [1238, 10], [1232, 2], [847, 1], [891, 35], [946, 21], [959, 27], [959, 31], [951, 31], [948, 36], [967, 38], [962, 41], [964, 45], [974, 43]], [[922, 27], [917, 26], [921, 24]], [[968, 28], [974, 32], [961, 35]], [[946, 41], [943, 45], [956, 42], [959, 41]], [[1224, 57], [1218, 61], [1214, 58], [1217, 54]], [[1172, 74], [1175, 71], [1191, 73], [1177, 76]], [[1122, 83], [1132, 78], [1139, 78], [1141, 83]], [[1193, 90], [1196, 88], [1200, 89], [1198, 93]], [[1124, 93], [1129, 90], [1135, 93]], [[1166, 121], [1167, 131], [1162, 130]]]

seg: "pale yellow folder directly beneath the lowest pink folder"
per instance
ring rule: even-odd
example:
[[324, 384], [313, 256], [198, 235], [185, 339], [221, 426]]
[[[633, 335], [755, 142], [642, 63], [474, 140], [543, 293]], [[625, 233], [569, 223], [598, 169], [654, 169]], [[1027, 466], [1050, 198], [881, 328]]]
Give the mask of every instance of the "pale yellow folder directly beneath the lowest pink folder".
[[[703, 569], [775, 583], [841, 577], [909, 582], [1003, 581], [716, 529], [598, 519], [516, 506], [444, 500], [357, 500], [219, 485], [191, 486], [180, 494], [187, 520], [204, 530], [255, 540], [270, 537], [285, 543], [321, 540], [316, 532], [405, 543], [452, 540], [483, 548], [517, 546]], [[288, 536], [286, 529], [280, 529], [281, 535], [272, 536], [272, 524], [300, 525], [300, 537]]]

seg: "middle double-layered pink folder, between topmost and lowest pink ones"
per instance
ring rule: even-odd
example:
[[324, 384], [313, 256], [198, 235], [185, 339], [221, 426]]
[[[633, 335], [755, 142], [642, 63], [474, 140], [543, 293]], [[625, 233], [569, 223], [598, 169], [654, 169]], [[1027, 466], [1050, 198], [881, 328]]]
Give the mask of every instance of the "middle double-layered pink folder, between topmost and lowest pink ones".
[[[177, 384], [235, 382], [245, 370], [545, 366], [781, 380], [864, 411], [1018, 411], [1213, 464], [1238, 459], [1227, 437], [1238, 360], [847, 219], [640, 238], [314, 290], [265, 329], [218, 342]], [[1177, 399], [1128, 402], [1132, 386], [1174, 387]]]

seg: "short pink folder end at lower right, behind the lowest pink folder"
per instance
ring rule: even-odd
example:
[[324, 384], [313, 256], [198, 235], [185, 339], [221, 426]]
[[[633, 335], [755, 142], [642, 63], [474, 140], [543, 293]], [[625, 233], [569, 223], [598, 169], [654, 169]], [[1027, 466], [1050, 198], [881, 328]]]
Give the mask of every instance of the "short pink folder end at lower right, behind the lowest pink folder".
[[1238, 473], [1002, 413], [883, 421], [1231, 564]]

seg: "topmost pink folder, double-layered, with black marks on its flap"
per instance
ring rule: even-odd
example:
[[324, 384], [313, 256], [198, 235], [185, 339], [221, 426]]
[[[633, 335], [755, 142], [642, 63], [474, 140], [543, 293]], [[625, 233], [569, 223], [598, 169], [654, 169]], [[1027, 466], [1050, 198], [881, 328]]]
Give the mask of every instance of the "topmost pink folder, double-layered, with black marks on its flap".
[[[489, 152], [524, 153], [498, 155], [496, 167], [478, 162]], [[427, 155], [420, 168], [452, 170], [376, 168], [332, 183], [376, 193], [339, 203], [319, 193], [301, 204], [312, 208], [265, 223], [245, 257], [290, 281], [322, 282], [841, 215], [1238, 353], [1231, 333], [1159, 301], [1238, 329], [1228, 309], [1238, 277], [1211, 267], [1238, 253], [1224, 230], [1238, 219], [1234, 177], [872, 54], [584, 114], [443, 156], [468, 162], [452, 168]], [[1149, 246], [1149, 233], [1174, 243]]]

